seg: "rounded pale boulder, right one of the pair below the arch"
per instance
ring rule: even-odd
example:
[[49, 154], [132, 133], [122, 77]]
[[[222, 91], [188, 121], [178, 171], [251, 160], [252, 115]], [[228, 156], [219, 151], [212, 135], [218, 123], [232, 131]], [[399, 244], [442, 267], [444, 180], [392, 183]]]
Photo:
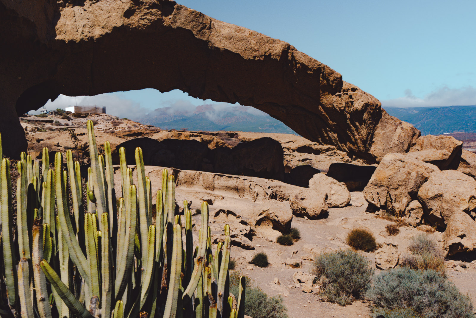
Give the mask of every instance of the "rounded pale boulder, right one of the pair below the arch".
[[321, 173], [309, 180], [309, 189], [317, 193], [325, 193], [326, 204], [329, 208], [345, 207], [350, 202], [350, 192], [346, 185]]

